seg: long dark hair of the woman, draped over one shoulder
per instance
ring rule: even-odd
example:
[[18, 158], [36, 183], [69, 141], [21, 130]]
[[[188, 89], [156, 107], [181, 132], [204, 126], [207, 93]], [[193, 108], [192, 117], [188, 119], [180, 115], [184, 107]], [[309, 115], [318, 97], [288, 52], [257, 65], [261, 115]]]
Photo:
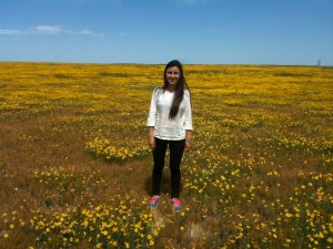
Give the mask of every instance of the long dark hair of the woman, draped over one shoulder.
[[170, 113], [169, 113], [169, 118], [170, 120], [173, 120], [176, 116], [178, 111], [179, 111], [179, 105], [183, 101], [183, 97], [184, 97], [184, 90], [189, 90], [189, 86], [186, 84], [186, 80], [185, 80], [184, 74], [183, 74], [182, 64], [178, 60], [173, 60], [173, 61], [169, 62], [165, 65], [165, 69], [164, 69], [164, 85], [162, 87], [163, 91], [165, 91], [169, 86], [169, 82], [167, 80], [167, 70], [169, 68], [172, 68], [172, 66], [179, 68], [180, 77], [179, 77], [179, 81], [178, 81], [176, 86], [174, 89], [174, 96], [173, 96], [171, 110], [170, 110]]

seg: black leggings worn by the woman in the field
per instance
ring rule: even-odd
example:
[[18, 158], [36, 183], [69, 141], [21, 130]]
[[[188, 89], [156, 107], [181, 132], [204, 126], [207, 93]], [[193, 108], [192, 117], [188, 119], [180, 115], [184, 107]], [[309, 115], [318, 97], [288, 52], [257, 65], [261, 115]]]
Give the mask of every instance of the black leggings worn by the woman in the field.
[[181, 185], [180, 163], [185, 148], [185, 139], [163, 141], [155, 137], [155, 148], [153, 151], [154, 167], [152, 172], [152, 195], [160, 195], [162, 172], [164, 167], [168, 144], [170, 149], [171, 198], [179, 198]]

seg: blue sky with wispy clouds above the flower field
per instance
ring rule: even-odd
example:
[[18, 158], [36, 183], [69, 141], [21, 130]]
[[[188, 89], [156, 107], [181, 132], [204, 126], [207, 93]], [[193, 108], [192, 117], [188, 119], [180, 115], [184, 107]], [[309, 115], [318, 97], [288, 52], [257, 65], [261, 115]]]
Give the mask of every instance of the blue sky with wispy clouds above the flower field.
[[1, 0], [0, 61], [333, 65], [333, 0]]

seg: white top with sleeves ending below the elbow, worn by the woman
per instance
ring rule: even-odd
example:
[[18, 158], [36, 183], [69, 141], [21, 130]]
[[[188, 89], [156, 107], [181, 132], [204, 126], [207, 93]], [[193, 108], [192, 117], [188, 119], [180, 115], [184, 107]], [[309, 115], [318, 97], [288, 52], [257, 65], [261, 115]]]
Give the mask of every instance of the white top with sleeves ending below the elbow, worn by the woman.
[[174, 93], [157, 87], [151, 97], [147, 126], [154, 127], [154, 137], [165, 141], [185, 138], [185, 131], [192, 127], [192, 110], [190, 92], [184, 90], [184, 96], [173, 120], [169, 118]]

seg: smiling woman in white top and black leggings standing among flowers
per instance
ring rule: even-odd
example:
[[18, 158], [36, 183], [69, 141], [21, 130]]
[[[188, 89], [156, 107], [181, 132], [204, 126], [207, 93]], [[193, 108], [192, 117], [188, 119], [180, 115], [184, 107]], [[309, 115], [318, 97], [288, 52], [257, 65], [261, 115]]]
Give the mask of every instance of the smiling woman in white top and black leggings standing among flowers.
[[155, 87], [152, 94], [147, 126], [149, 146], [153, 152], [151, 207], [157, 207], [164, 167], [165, 152], [170, 149], [171, 200], [175, 210], [181, 210], [179, 200], [181, 170], [184, 149], [192, 147], [191, 98], [182, 64], [173, 60], [165, 65], [164, 85]]

